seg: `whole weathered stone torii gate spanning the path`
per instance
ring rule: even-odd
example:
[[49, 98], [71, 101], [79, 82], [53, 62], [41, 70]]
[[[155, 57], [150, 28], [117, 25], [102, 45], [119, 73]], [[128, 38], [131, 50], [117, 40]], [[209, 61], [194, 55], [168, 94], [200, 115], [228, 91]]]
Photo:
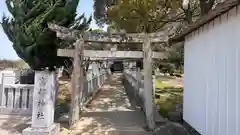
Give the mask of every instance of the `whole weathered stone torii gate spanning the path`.
[[[81, 101], [82, 82], [83, 82], [83, 61], [84, 57], [89, 57], [90, 60], [101, 59], [120, 59], [143, 58], [144, 67], [144, 97], [145, 97], [145, 112], [146, 122], [150, 130], [155, 128], [154, 109], [155, 101], [152, 82], [152, 59], [165, 58], [166, 54], [163, 52], [153, 52], [151, 43], [166, 43], [168, 36], [165, 33], [138, 33], [126, 34], [118, 33], [109, 36], [96, 36], [91, 35], [90, 32], [81, 32], [71, 30], [55, 24], [49, 24], [49, 28], [57, 33], [57, 37], [63, 40], [75, 41], [74, 49], [58, 49], [58, 56], [60, 57], [73, 57], [74, 69], [72, 76], [72, 110], [70, 125], [73, 126], [79, 120], [79, 113], [82, 106], [79, 106]], [[117, 50], [84, 50], [88, 43], [99, 44], [142, 44], [143, 51], [117, 51]], [[79, 97], [80, 94], [80, 97]], [[80, 99], [79, 99], [80, 98]]]

